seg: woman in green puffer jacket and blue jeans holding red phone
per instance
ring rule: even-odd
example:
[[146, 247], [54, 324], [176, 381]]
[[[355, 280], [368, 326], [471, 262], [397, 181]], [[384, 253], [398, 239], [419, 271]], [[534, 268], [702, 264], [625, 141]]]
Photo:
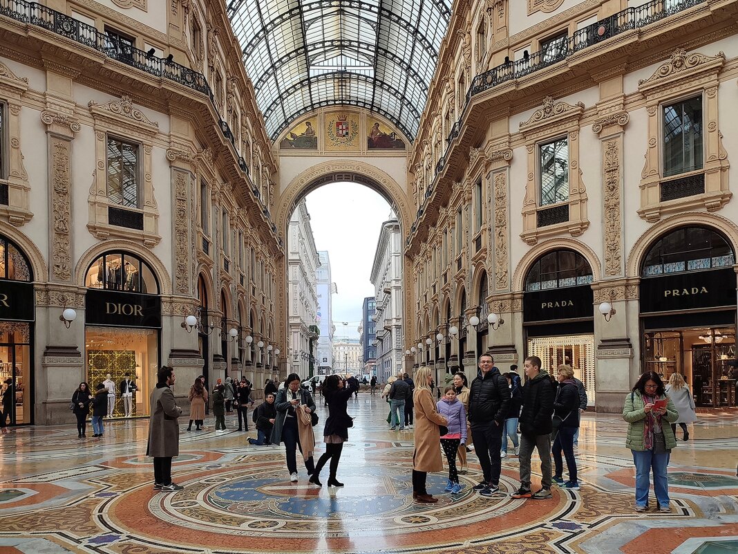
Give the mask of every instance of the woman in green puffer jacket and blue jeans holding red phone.
[[[666, 407], [656, 408], [656, 400], [666, 400]], [[623, 419], [628, 422], [625, 445], [633, 453], [635, 464], [635, 511], [648, 509], [649, 480], [653, 471], [653, 490], [658, 509], [668, 513], [669, 482], [666, 467], [669, 455], [677, 445], [672, 426], [679, 419], [679, 412], [664, 392], [663, 381], [658, 373], [646, 372], [635, 383], [625, 397]]]

